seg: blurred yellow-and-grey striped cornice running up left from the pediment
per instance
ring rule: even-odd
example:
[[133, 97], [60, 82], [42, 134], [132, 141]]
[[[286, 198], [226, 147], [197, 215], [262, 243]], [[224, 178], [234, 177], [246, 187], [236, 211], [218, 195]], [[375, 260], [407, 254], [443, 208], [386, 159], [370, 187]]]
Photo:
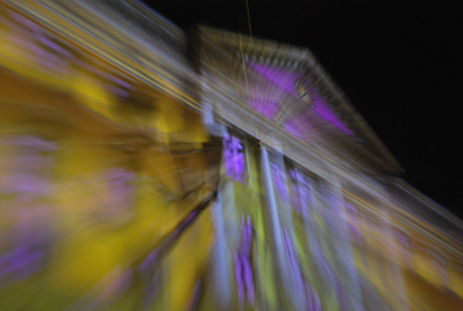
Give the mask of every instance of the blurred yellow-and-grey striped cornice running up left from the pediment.
[[[152, 24], [158, 23], [158, 36], [148, 40], [156, 27], [144, 29], [129, 23], [115, 9], [114, 4], [69, 0], [5, 0], [19, 13], [34, 19], [50, 30], [56, 38], [75, 44], [111, 63], [125, 74], [154, 87], [182, 104], [200, 111], [195, 85], [197, 75], [186, 60], [186, 40], [173, 25], [158, 17], [136, 1], [131, 4], [133, 14], [145, 16]], [[103, 9], [104, 8], [104, 9]], [[143, 9], [144, 11], [138, 11]], [[179, 48], [180, 45], [184, 47]], [[171, 57], [174, 51], [178, 57]], [[183, 55], [182, 55], [183, 53]]]

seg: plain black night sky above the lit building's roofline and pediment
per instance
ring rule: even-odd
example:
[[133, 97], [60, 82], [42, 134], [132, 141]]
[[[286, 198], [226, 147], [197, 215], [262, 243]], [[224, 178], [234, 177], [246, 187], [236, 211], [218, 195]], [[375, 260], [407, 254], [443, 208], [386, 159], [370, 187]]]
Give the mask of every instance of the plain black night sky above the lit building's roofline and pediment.
[[[460, 1], [248, 1], [253, 36], [309, 48], [402, 178], [463, 218]], [[246, 0], [144, 2], [185, 31], [249, 34]]]

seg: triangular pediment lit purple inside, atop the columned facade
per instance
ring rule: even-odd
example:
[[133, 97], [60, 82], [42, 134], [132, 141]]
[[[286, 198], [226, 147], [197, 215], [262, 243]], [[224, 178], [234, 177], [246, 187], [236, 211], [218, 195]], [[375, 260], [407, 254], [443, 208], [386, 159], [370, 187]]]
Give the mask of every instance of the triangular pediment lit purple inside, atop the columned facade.
[[199, 38], [200, 59], [207, 64], [200, 69], [203, 76], [269, 126], [301, 144], [323, 141], [341, 153], [363, 154], [359, 157], [387, 171], [401, 171], [308, 49], [202, 26]]

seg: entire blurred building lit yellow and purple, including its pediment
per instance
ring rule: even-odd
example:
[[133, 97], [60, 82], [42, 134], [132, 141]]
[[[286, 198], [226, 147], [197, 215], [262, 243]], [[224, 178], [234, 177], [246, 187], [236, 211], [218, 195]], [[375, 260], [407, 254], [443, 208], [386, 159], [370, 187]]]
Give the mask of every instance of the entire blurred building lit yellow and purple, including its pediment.
[[0, 2], [0, 310], [463, 310], [463, 225], [307, 49]]

